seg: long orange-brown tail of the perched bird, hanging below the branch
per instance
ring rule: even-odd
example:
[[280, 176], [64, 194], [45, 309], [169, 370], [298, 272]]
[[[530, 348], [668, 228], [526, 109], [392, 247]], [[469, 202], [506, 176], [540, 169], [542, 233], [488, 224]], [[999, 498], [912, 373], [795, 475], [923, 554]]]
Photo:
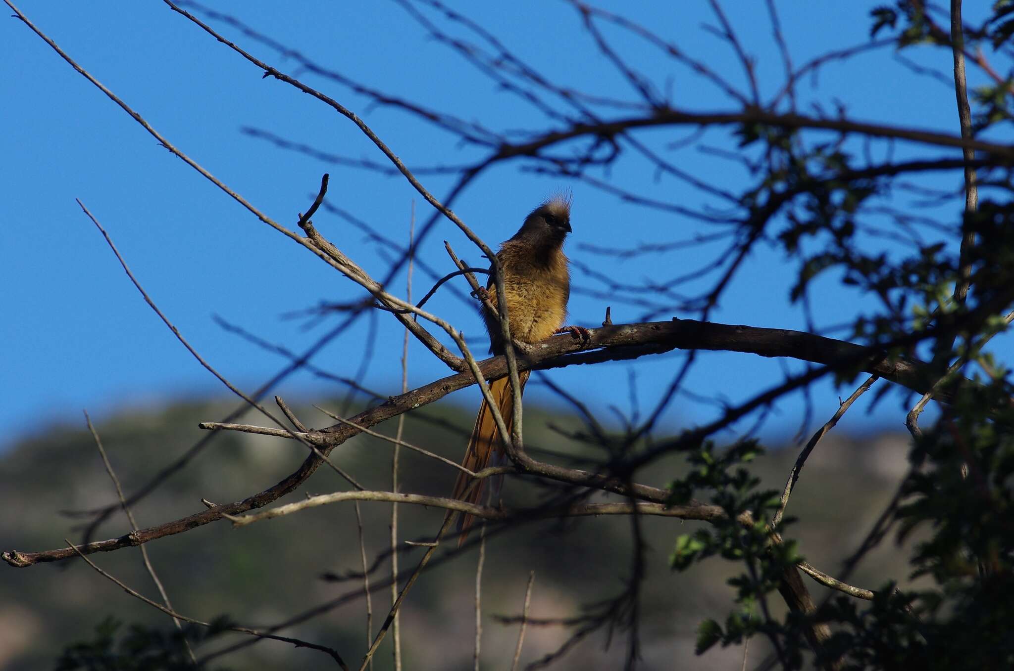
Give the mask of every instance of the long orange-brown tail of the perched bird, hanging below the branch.
[[[518, 372], [522, 392], [530, 372], [530, 370]], [[510, 378], [501, 378], [490, 383], [490, 395], [500, 408], [500, 416], [504, 418], [507, 431], [510, 431], [514, 426], [514, 395], [511, 393]], [[494, 453], [496, 456], [494, 456]], [[472, 437], [468, 438], [468, 448], [464, 452], [464, 459], [461, 462], [461, 466], [473, 473], [478, 473], [487, 466], [490, 466], [491, 460], [502, 459], [505, 455], [503, 439], [500, 437], [499, 429], [497, 429], [496, 420], [493, 419], [493, 411], [490, 409], [490, 404], [484, 398], [483, 405], [479, 408], [479, 416], [476, 417], [476, 426], [472, 429]], [[499, 478], [500, 476], [496, 477]], [[472, 478], [466, 473], [459, 472], [457, 474], [457, 482], [454, 483], [453, 498], [460, 499], [466, 503], [479, 503], [482, 500], [483, 485], [486, 481], [485, 479], [479, 481], [472, 488], [472, 491], [465, 495], [464, 492], [470, 482]], [[464, 514], [461, 516], [458, 522], [458, 530], [460, 531], [457, 540], [458, 548], [461, 547], [461, 543], [464, 542], [465, 537], [468, 535], [468, 528], [472, 527], [473, 521], [474, 517], [472, 515]]]

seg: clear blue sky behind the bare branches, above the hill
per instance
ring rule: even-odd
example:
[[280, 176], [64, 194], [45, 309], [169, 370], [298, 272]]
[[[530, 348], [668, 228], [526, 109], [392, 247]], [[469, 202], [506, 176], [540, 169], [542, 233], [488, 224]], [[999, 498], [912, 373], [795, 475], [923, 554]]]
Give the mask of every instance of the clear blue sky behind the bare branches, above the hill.
[[[744, 49], [757, 60], [757, 79], [771, 94], [783, 82], [783, 66], [772, 38], [764, 3], [726, 3], [729, 18]], [[877, 3], [779, 2], [783, 31], [794, 63], [830, 49], [868, 39], [869, 8]], [[321, 66], [385, 93], [479, 119], [495, 129], [530, 125], [539, 115], [462, 62], [394, 2], [268, 3], [215, 2], [209, 6], [235, 15], [279, 43], [298, 49]], [[140, 112], [156, 130], [256, 206], [283, 225], [295, 228], [323, 172], [331, 173], [332, 201], [370, 223], [385, 236], [408, 237], [415, 200], [417, 219], [429, 216], [425, 203], [401, 177], [387, 177], [347, 166], [329, 165], [280, 149], [244, 134], [252, 128], [290, 142], [304, 143], [354, 159], [382, 161], [375, 147], [331, 108], [261, 72], [217, 44], [200, 28], [160, 2], [107, 1], [52, 3], [21, 0], [18, 7], [68, 54]], [[461, 3], [461, 11], [484, 24], [518, 55], [554, 81], [573, 88], [636, 100], [635, 93], [595, 50], [580, 16], [568, 3]], [[966, 8], [966, 12], [974, 11]], [[741, 90], [745, 78], [728, 45], [702, 28], [715, 24], [705, 2], [644, 3], [625, 9], [680, 49], [709, 64]], [[430, 14], [435, 17], [435, 15]], [[974, 15], [969, 18], [973, 19]], [[301, 71], [292, 58], [212, 22], [226, 36], [284, 72], [300, 77], [350, 107], [411, 167], [451, 165], [480, 154], [461, 147], [449, 134], [426, 125], [402, 111], [377, 106], [365, 96], [333, 81]], [[603, 28], [604, 29], [604, 28]], [[615, 48], [646, 73], [672, 104], [691, 110], [732, 110], [720, 90], [674, 64], [661, 52], [619, 31], [605, 29]], [[4, 343], [0, 380], [0, 435], [7, 441], [54, 423], [79, 422], [87, 408], [99, 416], [135, 407], [150, 407], [173, 398], [222, 397], [227, 391], [205, 371], [173, 338], [131, 285], [104, 241], [74, 201], [80, 198], [105, 227], [138, 279], [184, 335], [225, 376], [252, 390], [285, 360], [226, 333], [213, 321], [219, 315], [258, 336], [300, 351], [320, 337], [336, 318], [306, 327], [306, 320], [284, 319], [321, 301], [343, 302], [361, 292], [349, 280], [314, 259], [303, 248], [258, 222], [182, 161], [159, 148], [120, 108], [74, 72], [16, 19], [0, 22], [4, 100], [0, 134], [3, 156], [0, 179], [0, 298]], [[949, 73], [950, 56], [939, 49], [918, 48], [906, 55], [925, 67]], [[979, 83], [977, 74], [969, 80]], [[815, 85], [815, 87], [814, 87]], [[844, 64], [832, 63], [813, 82], [800, 87], [800, 108], [835, 101], [848, 114], [864, 120], [934, 129], [957, 129], [951, 89], [919, 76], [880, 50]], [[687, 129], [653, 131], [645, 141], [659, 145], [686, 137]], [[733, 149], [728, 132], [710, 132], [709, 144]], [[1009, 141], [1009, 139], [1006, 139]], [[860, 149], [855, 147], [856, 151]], [[875, 143], [871, 151], [907, 156], [958, 156], [898, 144]], [[680, 168], [722, 188], [742, 187], [745, 175], [736, 164], [693, 147], [667, 155]], [[640, 242], [693, 237], [710, 229], [678, 215], [622, 202], [586, 184], [569, 183], [503, 164], [482, 176], [454, 203], [454, 211], [487, 242], [496, 244], [516, 230], [525, 214], [559, 188], [574, 193], [573, 258], [595, 264], [623, 281], [662, 279], [686, 272], [708, 260], [714, 247], [620, 261], [592, 255], [581, 243], [624, 248]], [[690, 207], [720, 203], [674, 180], [655, 180], [651, 166], [625, 159], [607, 175], [625, 187]], [[933, 187], [955, 187], [958, 174], [922, 175], [915, 180]], [[438, 197], [452, 183], [446, 176], [426, 176]], [[894, 204], [902, 205], [902, 195]], [[932, 213], [956, 221], [957, 201]], [[318, 229], [375, 276], [387, 261], [362, 232], [321, 213]], [[480, 264], [479, 254], [448, 222], [441, 222], [421, 250], [422, 257], [446, 271], [449, 261], [442, 240], [464, 258]], [[877, 243], [882, 244], [882, 243]], [[799, 306], [788, 301], [795, 266], [774, 248], [758, 248], [729, 287], [714, 321], [780, 328], [803, 328]], [[432, 283], [417, 274], [416, 296]], [[457, 281], [457, 280], [455, 280]], [[598, 287], [581, 273], [575, 283]], [[463, 284], [462, 284], [463, 285]], [[698, 288], [707, 283], [695, 284]], [[404, 287], [404, 275], [392, 289]], [[834, 277], [817, 284], [816, 323], [841, 324], [875, 304], [839, 287]], [[597, 326], [608, 302], [575, 296], [572, 322]], [[449, 293], [430, 304], [459, 325], [467, 336], [481, 337], [478, 316]], [[686, 315], [680, 315], [685, 317]], [[633, 307], [612, 304], [617, 323], [634, 321]], [[400, 389], [401, 365], [388, 352], [400, 351], [402, 332], [393, 320], [377, 316], [377, 351], [366, 381], [384, 394]], [[352, 375], [363, 357], [369, 320], [347, 332], [314, 359], [320, 367]], [[1014, 353], [1009, 336], [995, 347], [1007, 360]], [[479, 347], [485, 351], [484, 347]], [[628, 386], [635, 374], [637, 397], [648, 404], [668, 384], [680, 355], [645, 358], [637, 363], [575, 366], [552, 372], [554, 381], [604, 410], [614, 404], [629, 410]], [[686, 387], [697, 395], [720, 396], [730, 402], [777, 383], [784, 362], [747, 354], [706, 353]], [[789, 363], [793, 370], [801, 369]], [[445, 374], [421, 346], [412, 343], [410, 385]], [[881, 383], [884, 384], [884, 383]], [[829, 383], [814, 389], [815, 419], [837, 408]], [[277, 393], [315, 399], [329, 392], [307, 373], [285, 381]], [[530, 388], [529, 403], [552, 401]], [[445, 402], [477, 403], [475, 389]], [[769, 421], [770, 435], [795, 432], [803, 399], [785, 399]], [[664, 417], [670, 427], [703, 421], [716, 409], [680, 398]], [[216, 418], [209, 417], [209, 420]], [[843, 422], [846, 430], [900, 428], [903, 412], [896, 398], [865, 415], [860, 406]], [[313, 418], [309, 423], [323, 424]], [[194, 428], [195, 436], [198, 433]], [[0, 443], [2, 444], [2, 443]]]

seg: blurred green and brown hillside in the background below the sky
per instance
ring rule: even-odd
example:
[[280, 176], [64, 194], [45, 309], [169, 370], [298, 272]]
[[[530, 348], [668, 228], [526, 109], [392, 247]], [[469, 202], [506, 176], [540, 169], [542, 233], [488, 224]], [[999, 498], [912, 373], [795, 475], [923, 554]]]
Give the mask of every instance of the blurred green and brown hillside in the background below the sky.
[[[337, 409], [338, 403], [323, 404]], [[441, 407], [442, 406], [442, 407]], [[98, 432], [125, 490], [144, 484], [161, 467], [183, 453], [202, 435], [199, 421], [223, 417], [224, 404], [179, 404], [160, 412], [131, 412], [101, 422]], [[297, 408], [308, 425], [324, 426], [316, 410]], [[427, 408], [428, 419], [411, 417], [406, 439], [451, 459], [463, 450], [463, 434], [473, 417], [446, 404]], [[574, 417], [549, 416], [526, 406], [526, 443], [574, 456], [598, 456], [561, 437], [549, 424], [575, 429]], [[252, 414], [247, 420], [262, 423]], [[455, 427], [457, 427], [455, 429]], [[376, 427], [393, 433], [394, 424]], [[359, 436], [335, 450], [333, 460], [369, 489], [389, 487], [392, 445]], [[770, 449], [777, 446], [768, 446]], [[780, 489], [798, 450], [771, 449], [751, 464], [765, 486]], [[908, 440], [900, 435], [848, 438], [831, 432], [817, 447], [793, 494], [789, 513], [800, 521], [791, 536], [800, 541], [807, 560], [835, 575], [869, 530], [893, 493], [906, 469]], [[536, 452], [538, 453], [538, 452]], [[402, 491], [447, 495], [455, 473], [415, 452], [402, 452]], [[220, 435], [191, 466], [170, 478], [135, 508], [142, 526], [158, 524], [204, 509], [200, 499], [230, 502], [261, 491], [291, 473], [305, 455], [293, 441], [240, 433]], [[546, 453], [540, 457], [551, 458]], [[558, 457], [559, 458], [559, 457]], [[676, 459], [658, 463], [639, 480], [664, 486], [679, 472]], [[282, 502], [306, 493], [347, 489], [330, 469], [321, 468]], [[520, 480], [508, 480], [504, 498], [533, 503], [541, 490]], [[80, 428], [55, 427], [20, 441], [0, 459], [0, 546], [24, 552], [63, 547], [64, 538], [79, 539], [80, 519], [61, 511], [110, 504], [116, 493], [90, 434]], [[369, 560], [388, 546], [389, 504], [363, 503]], [[402, 537], [426, 539], [439, 527], [442, 512], [418, 506], [400, 508]], [[646, 668], [739, 668], [741, 649], [713, 649], [694, 655], [698, 623], [704, 617], [723, 618], [731, 603], [724, 581], [735, 567], [714, 560], [683, 574], [667, 568], [674, 537], [695, 523], [669, 518], [643, 520], [651, 551], [643, 591], [642, 656]], [[126, 518], [114, 516], [94, 539], [128, 531]], [[351, 503], [323, 506], [281, 519], [233, 529], [228, 522], [209, 524], [148, 544], [176, 610], [212, 619], [227, 614], [251, 626], [281, 621], [313, 605], [354, 590], [358, 580], [333, 582], [331, 572], [345, 575], [360, 568], [358, 531]], [[402, 568], [415, 566], [421, 550], [403, 556]], [[475, 571], [478, 551], [440, 564], [425, 573], [402, 611], [406, 669], [472, 668], [475, 636]], [[93, 555], [103, 569], [143, 594], [158, 600], [141, 563], [140, 551], [125, 549]], [[631, 565], [631, 524], [622, 517], [531, 522], [494, 535], [487, 547], [483, 582], [484, 667], [509, 668], [517, 625], [497, 622], [494, 614], [520, 612], [528, 572], [535, 571], [531, 599], [534, 617], [571, 616], [581, 605], [623, 589]], [[853, 584], [875, 589], [888, 579], [904, 582], [906, 553], [887, 542], [871, 554], [852, 578]], [[389, 575], [382, 566], [374, 582]], [[804, 578], [805, 579], [805, 578]], [[825, 591], [807, 580], [816, 598]], [[389, 589], [373, 591], [374, 631], [386, 615]], [[780, 604], [773, 604], [780, 605]], [[168, 618], [130, 597], [79, 560], [42, 564], [25, 569], [0, 566], [0, 669], [53, 668], [69, 644], [90, 640], [94, 626], [108, 615], [168, 632]], [[552, 652], [568, 631], [562, 626], [530, 626], [522, 664]], [[359, 599], [328, 614], [282, 632], [332, 646], [351, 664], [365, 652], [365, 603]], [[568, 654], [555, 668], [614, 668], [623, 655], [624, 634], [603, 651], [604, 636], [595, 634]], [[198, 649], [198, 656], [247, 640], [226, 634]], [[390, 666], [389, 639], [376, 656], [376, 668]], [[758, 661], [767, 648], [751, 643], [749, 659]], [[260, 642], [242, 652], [215, 660], [231, 669], [332, 669], [327, 656], [278, 642]]]

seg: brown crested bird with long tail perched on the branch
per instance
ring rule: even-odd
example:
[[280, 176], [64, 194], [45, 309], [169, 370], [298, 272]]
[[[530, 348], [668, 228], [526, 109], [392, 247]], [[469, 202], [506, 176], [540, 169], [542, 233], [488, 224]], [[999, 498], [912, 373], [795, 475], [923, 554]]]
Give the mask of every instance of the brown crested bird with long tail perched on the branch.
[[[497, 253], [504, 277], [510, 334], [517, 341], [535, 343], [555, 333], [583, 330], [578, 327], [562, 328], [567, 318], [567, 300], [570, 298], [570, 270], [563, 253], [563, 244], [570, 231], [570, 198], [554, 196], [531, 211], [521, 229], [503, 243]], [[493, 287], [491, 274], [486, 285], [487, 296], [490, 303], [497, 307], [497, 296]], [[483, 318], [486, 330], [490, 333], [490, 352], [503, 354], [500, 324], [485, 305]], [[518, 373], [522, 390], [528, 373], [528, 370]], [[490, 383], [490, 394], [510, 431], [514, 424], [514, 396], [511, 393], [510, 379], [501, 378]], [[494, 454], [497, 455], [497, 462], [505, 457], [504, 443], [493, 419], [493, 412], [486, 399], [483, 399], [461, 466], [476, 473], [489, 466]], [[483, 481], [465, 495], [470, 480], [467, 474], [459, 473], [453, 496], [469, 503], [479, 503]], [[472, 523], [472, 515], [461, 517], [458, 547], [464, 542]]]

